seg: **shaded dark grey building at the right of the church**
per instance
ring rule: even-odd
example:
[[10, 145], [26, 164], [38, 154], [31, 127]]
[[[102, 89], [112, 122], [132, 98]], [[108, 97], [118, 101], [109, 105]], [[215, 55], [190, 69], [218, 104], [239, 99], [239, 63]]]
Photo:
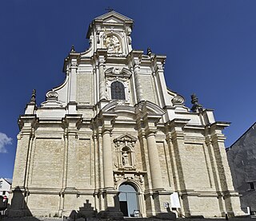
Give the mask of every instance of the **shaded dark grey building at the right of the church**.
[[[256, 214], [256, 123], [226, 149], [235, 191], [241, 194], [242, 210]], [[248, 211], [249, 207], [249, 211]]]

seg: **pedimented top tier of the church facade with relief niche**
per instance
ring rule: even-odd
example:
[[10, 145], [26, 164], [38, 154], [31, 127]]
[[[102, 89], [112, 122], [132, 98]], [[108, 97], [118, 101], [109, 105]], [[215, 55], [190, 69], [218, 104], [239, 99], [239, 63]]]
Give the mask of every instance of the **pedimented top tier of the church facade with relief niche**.
[[131, 48], [131, 31], [134, 21], [114, 10], [95, 18], [90, 23], [86, 38], [90, 39], [90, 47], [107, 49], [113, 56], [126, 56]]

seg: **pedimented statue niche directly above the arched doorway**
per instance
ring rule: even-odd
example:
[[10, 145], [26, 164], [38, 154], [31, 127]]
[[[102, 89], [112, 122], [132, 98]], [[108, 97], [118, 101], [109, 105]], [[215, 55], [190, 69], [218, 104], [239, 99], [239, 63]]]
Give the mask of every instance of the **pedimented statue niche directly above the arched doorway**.
[[115, 166], [119, 169], [134, 170], [135, 156], [134, 156], [134, 145], [137, 138], [130, 135], [119, 136], [114, 139], [115, 150], [116, 150], [116, 162]]

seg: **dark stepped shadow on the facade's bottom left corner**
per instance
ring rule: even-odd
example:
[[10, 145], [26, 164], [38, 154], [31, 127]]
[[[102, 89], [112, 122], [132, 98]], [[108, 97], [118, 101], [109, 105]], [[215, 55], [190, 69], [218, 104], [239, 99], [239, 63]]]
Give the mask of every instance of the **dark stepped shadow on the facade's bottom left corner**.
[[[15, 187], [13, 190], [13, 197], [11, 203], [7, 207], [6, 215], [9, 217], [25, 217], [32, 216], [32, 213], [26, 205], [26, 191], [22, 191], [20, 187]], [[31, 221], [36, 221], [34, 217], [30, 218]]]

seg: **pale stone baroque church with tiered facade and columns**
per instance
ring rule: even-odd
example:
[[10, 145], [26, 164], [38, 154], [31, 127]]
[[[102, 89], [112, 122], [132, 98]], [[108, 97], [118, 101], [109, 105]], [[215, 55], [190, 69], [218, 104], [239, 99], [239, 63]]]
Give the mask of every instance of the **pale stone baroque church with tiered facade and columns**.
[[[134, 22], [95, 18], [66, 80], [19, 116], [10, 216], [243, 215], [222, 129], [166, 87], [166, 56], [132, 48]], [[121, 217], [120, 216], [120, 217]]]

